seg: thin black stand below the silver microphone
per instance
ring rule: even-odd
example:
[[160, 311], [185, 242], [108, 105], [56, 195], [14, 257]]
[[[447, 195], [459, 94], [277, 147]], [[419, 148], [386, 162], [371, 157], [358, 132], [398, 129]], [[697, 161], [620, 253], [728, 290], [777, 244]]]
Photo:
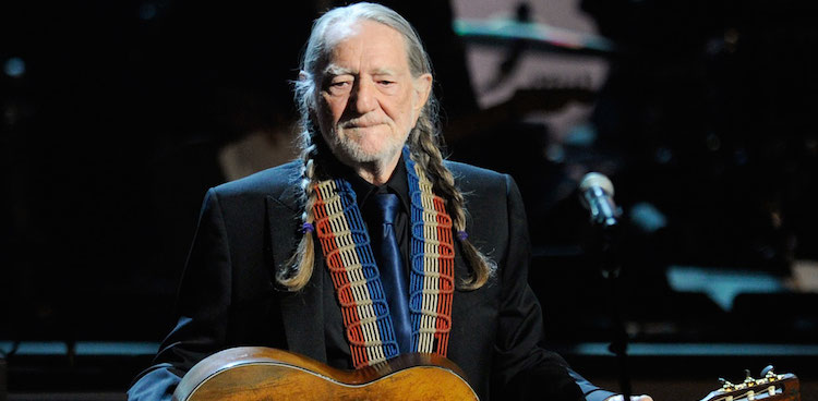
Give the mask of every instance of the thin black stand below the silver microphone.
[[611, 316], [613, 318], [611, 327], [612, 341], [609, 345], [609, 351], [616, 357], [619, 368], [618, 380], [622, 394], [625, 401], [630, 401], [631, 388], [627, 366], [628, 339], [619, 309], [622, 296], [617, 289], [617, 281], [622, 271], [618, 258], [619, 224], [615, 220], [592, 222], [594, 227], [594, 246], [591, 254], [600, 267], [602, 277], [606, 281]]

